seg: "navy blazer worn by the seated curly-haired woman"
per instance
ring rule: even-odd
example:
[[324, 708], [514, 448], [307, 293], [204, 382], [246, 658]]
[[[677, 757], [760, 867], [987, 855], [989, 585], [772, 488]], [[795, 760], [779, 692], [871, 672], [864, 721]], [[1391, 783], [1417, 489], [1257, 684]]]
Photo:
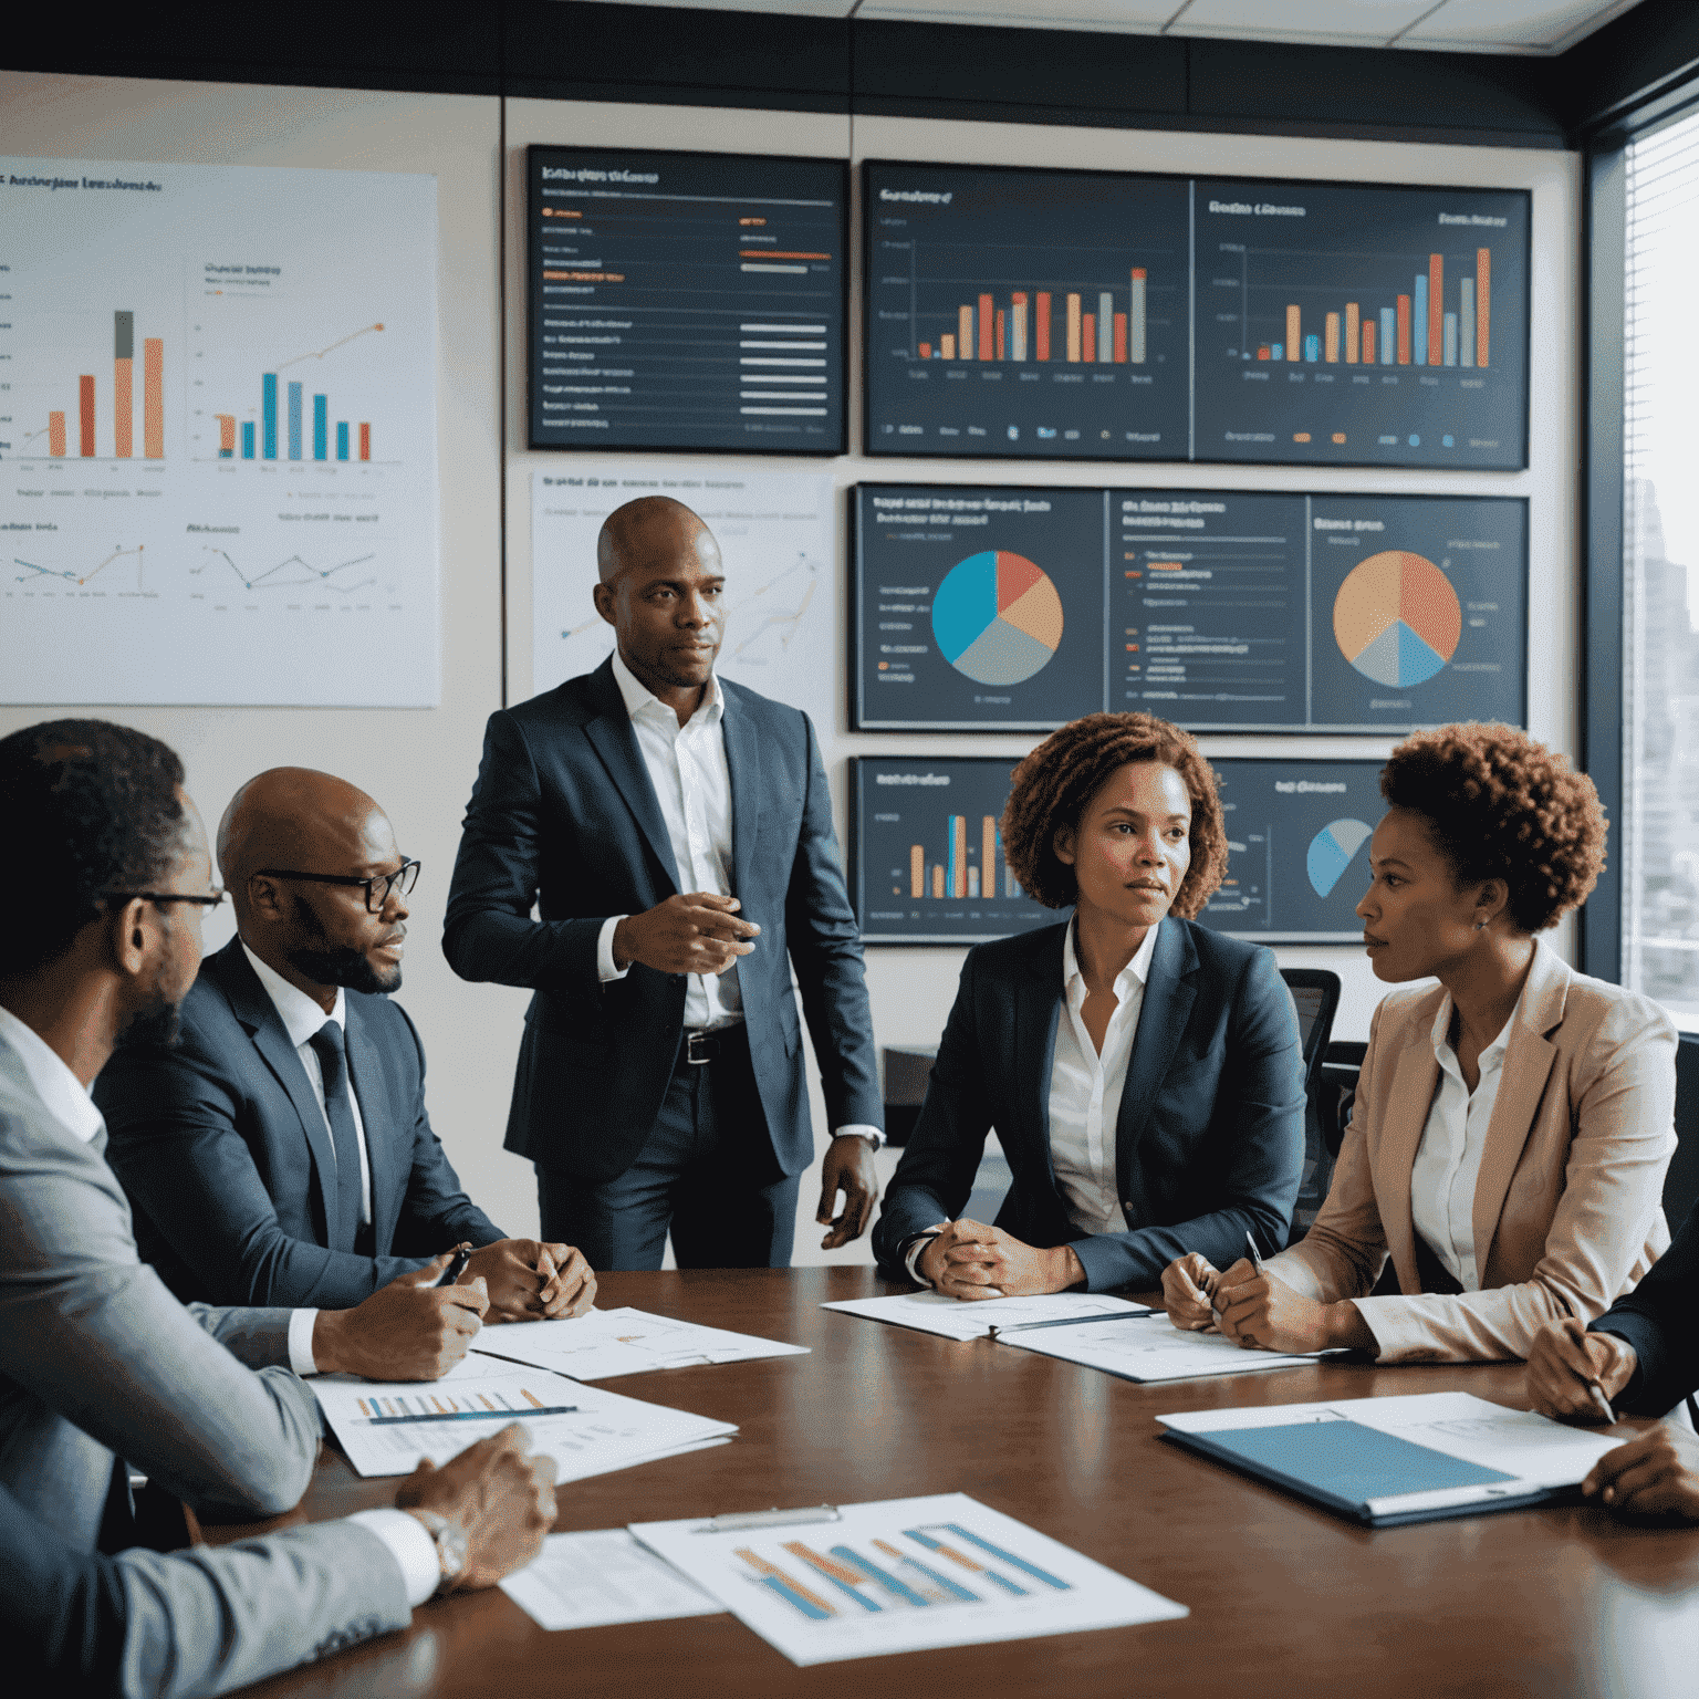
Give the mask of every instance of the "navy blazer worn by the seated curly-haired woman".
[[873, 1252], [904, 1274], [902, 1245], [953, 1220], [992, 1128], [1014, 1184], [996, 1225], [1030, 1245], [1072, 1244], [1089, 1291], [1160, 1284], [1188, 1250], [1216, 1267], [1291, 1230], [1303, 1176], [1298, 1014], [1274, 955], [1169, 916], [1115, 1121], [1130, 1232], [1081, 1233], [1050, 1164], [1050, 1065], [1062, 1013], [1065, 926], [970, 950], [926, 1103], [885, 1196]]

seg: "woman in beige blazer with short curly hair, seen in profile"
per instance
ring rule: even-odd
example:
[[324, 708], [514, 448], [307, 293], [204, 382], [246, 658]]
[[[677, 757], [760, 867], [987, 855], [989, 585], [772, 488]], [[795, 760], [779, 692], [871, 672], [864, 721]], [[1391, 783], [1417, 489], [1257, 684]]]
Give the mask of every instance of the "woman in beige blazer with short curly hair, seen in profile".
[[[1188, 1256], [1169, 1315], [1242, 1346], [1383, 1363], [1526, 1358], [1585, 1329], [1670, 1242], [1675, 1030], [1538, 934], [1604, 866], [1592, 780], [1507, 725], [1442, 725], [1381, 773], [1358, 904], [1376, 1009], [1334, 1184], [1256, 1271]], [[1199, 1250], [1199, 1245], [1188, 1247]], [[1391, 1278], [1383, 1278], [1386, 1262]]]

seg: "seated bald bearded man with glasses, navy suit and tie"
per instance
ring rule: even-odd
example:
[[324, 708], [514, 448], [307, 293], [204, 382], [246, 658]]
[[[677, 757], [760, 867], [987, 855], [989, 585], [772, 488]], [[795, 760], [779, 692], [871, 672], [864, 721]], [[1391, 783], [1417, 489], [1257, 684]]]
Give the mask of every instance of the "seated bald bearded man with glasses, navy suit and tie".
[[425, 1113], [401, 985], [420, 865], [328, 773], [274, 768], [217, 836], [238, 934], [207, 957], [175, 1043], [127, 1041], [97, 1101], [143, 1257], [185, 1300], [352, 1308], [471, 1244], [489, 1322], [581, 1315], [569, 1245], [506, 1239], [460, 1189]]

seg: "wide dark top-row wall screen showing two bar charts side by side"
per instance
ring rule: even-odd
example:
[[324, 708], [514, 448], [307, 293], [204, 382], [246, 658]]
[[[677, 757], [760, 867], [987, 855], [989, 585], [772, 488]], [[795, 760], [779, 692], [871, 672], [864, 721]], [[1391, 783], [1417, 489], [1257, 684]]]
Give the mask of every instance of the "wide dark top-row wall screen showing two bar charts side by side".
[[866, 452], [1522, 467], [1529, 207], [868, 161]]

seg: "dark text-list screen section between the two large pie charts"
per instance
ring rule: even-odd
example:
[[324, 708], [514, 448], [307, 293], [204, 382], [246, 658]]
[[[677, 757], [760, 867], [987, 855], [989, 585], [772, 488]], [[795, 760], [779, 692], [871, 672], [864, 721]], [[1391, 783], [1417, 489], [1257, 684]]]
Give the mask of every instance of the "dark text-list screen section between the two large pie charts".
[[1111, 489], [1109, 693], [1193, 731], [1308, 719], [1305, 498]]

